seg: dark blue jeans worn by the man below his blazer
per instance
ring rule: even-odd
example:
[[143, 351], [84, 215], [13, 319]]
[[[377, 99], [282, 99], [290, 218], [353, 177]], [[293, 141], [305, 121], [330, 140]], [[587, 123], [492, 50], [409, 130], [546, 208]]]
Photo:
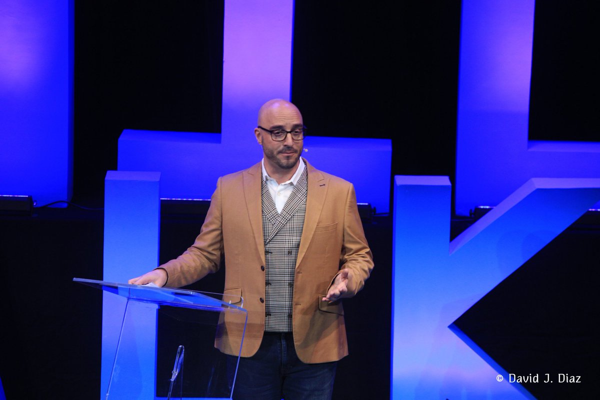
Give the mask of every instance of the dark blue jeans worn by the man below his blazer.
[[233, 399], [329, 400], [336, 366], [305, 364], [296, 356], [292, 333], [265, 332], [256, 354], [239, 359]]

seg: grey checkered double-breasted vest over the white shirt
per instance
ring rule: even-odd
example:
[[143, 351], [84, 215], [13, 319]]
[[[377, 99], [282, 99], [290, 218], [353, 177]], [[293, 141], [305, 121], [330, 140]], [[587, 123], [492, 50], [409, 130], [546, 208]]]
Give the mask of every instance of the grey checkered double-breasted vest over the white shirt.
[[292, 332], [294, 275], [304, 227], [307, 190], [304, 169], [281, 213], [278, 213], [265, 179], [262, 179], [267, 332]]

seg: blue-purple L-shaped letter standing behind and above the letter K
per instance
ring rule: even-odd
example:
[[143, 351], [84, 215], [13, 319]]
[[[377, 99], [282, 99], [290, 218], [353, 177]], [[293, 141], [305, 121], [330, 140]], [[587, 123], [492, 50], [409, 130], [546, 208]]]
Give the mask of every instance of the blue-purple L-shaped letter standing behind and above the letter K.
[[496, 206], [530, 178], [600, 178], [600, 142], [528, 139], [533, 10], [533, 0], [463, 1], [458, 215]]

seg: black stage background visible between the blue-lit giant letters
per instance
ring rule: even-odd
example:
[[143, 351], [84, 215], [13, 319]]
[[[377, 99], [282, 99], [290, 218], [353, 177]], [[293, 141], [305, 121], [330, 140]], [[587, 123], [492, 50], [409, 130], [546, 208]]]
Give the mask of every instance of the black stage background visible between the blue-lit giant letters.
[[[592, 2], [536, 5], [530, 139], [598, 140], [598, 22]], [[222, 33], [223, 2], [76, 2], [73, 203], [103, 206], [125, 128], [220, 131]], [[454, 182], [459, 39], [460, 1], [297, 1], [292, 101], [310, 134], [391, 138], [392, 176]], [[187, 248], [202, 219], [163, 214], [161, 262]], [[454, 218], [451, 236], [472, 222]], [[595, 380], [599, 225], [590, 217], [572, 225], [457, 324], [500, 365]], [[391, 218], [377, 216], [365, 231], [376, 269], [344, 300], [351, 355], [340, 362], [336, 399], [389, 398]], [[102, 278], [102, 210], [1, 216], [0, 234], [7, 398], [98, 398], [101, 293], [71, 279]], [[595, 398], [589, 381], [529, 389], [543, 399]]]

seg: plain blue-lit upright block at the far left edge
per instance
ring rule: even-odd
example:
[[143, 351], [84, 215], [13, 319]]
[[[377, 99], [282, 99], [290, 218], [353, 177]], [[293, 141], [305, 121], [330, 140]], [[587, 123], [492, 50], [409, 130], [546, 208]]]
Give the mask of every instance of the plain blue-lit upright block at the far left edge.
[[0, 2], [0, 194], [70, 200], [73, 4]]

